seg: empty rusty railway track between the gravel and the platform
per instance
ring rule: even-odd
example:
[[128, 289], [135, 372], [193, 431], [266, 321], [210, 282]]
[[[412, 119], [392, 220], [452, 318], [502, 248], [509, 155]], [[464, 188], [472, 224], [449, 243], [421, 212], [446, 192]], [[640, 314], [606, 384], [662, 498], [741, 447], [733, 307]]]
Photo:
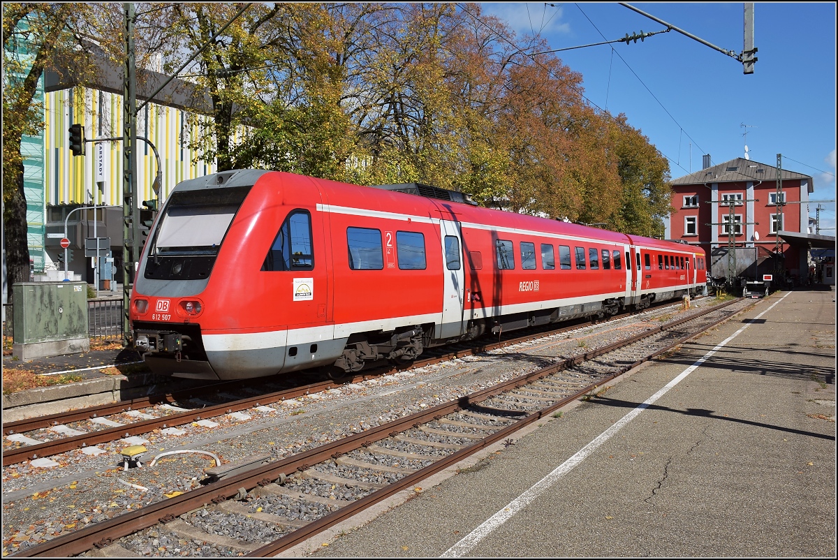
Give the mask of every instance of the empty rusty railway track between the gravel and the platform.
[[196, 553], [203, 556], [277, 554], [510, 438], [746, 305], [753, 303], [735, 300], [660, 324], [285, 459], [257, 464], [239, 474], [222, 474], [198, 490], [13, 556], [122, 557], [138, 551], [146, 555], [146, 549], [153, 556], [168, 556], [180, 553], [178, 546], [197, 546]]

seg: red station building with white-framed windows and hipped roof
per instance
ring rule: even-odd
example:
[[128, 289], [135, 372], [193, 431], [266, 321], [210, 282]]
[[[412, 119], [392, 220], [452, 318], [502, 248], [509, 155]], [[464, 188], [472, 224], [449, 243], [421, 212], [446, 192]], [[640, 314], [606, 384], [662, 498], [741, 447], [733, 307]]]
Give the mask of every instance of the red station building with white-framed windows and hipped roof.
[[[729, 228], [736, 247], [733, 276], [761, 277], [763, 273], [786, 273], [804, 278], [808, 274], [808, 251], [799, 241], [808, 235], [810, 194], [815, 189], [810, 175], [777, 168], [744, 158], [674, 179], [672, 206], [666, 221], [666, 239], [701, 245], [711, 256], [711, 273], [726, 277], [729, 266]], [[780, 183], [780, 216], [777, 188]], [[733, 211], [731, 216], [731, 205]], [[732, 223], [731, 223], [732, 222]], [[779, 236], [779, 255], [775, 254]], [[768, 261], [768, 262], [766, 262]]]

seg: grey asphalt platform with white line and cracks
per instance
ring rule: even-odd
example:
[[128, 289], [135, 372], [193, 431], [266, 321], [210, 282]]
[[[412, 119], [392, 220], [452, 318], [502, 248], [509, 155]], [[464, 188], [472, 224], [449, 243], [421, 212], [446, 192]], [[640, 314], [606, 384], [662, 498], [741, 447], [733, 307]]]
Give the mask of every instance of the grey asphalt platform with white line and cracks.
[[835, 288], [816, 287], [759, 300], [281, 556], [835, 552]]

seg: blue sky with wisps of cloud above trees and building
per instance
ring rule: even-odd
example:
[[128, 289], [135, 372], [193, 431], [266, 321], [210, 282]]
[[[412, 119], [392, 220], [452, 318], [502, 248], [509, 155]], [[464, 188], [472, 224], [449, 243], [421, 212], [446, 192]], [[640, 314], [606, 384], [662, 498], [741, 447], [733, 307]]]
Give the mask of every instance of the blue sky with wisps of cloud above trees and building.
[[[619, 39], [665, 26], [618, 3], [482, 3], [516, 34], [551, 49]], [[727, 51], [742, 52], [742, 3], [631, 3]], [[811, 200], [835, 200], [835, 3], [755, 3], [750, 75], [742, 63], [672, 30], [642, 43], [557, 53], [582, 74], [585, 96], [629, 123], [670, 160], [672, 178], [744, 156], [810, 175]], [[742, 124], [747, 127], [742, 127]], [[815, 217], [816, 204], [810, 205]], [[835, 236], [835, 202], [820, 233]], [[831, 229], [827, 229], [831, 228]]]

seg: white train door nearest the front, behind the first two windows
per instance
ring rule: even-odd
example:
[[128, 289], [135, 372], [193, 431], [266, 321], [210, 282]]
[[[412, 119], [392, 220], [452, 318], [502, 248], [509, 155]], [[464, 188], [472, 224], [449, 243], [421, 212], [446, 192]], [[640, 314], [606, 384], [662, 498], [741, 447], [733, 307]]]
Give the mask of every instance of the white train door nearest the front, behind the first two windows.
[[437, 338], [460, 336], [463, 330], [463, 236], [457, 222], [439, 220], [442, 237], [442, 318]]

